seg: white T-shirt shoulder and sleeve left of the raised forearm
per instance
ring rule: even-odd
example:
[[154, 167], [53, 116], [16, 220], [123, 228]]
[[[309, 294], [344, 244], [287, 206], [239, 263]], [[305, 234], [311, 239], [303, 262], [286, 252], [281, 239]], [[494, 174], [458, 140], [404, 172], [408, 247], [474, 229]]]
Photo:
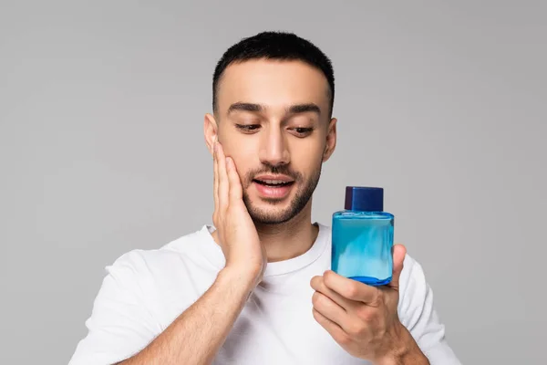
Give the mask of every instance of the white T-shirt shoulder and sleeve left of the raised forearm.
[[200, 257], [209, 256], [201, 245], [209, 244], [214, 252], [206, 229], [158, 249], [131, 250], [106, 266], [107, 275], [86, 321], [88, 335], [78, 343], [70, 364], [127, 359], [188, 308], [207, 284], [195, 270]]

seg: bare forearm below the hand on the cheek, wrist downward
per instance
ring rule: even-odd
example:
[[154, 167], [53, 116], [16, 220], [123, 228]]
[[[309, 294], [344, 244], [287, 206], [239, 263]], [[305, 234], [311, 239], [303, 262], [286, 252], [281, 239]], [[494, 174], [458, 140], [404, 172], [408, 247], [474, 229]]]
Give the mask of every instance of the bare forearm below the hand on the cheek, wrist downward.
[[228, 336], [253, 289], [254, 277], [224, 268], [190, 308], [137, 355], [119, 362], [138, 364], [209, 364]]

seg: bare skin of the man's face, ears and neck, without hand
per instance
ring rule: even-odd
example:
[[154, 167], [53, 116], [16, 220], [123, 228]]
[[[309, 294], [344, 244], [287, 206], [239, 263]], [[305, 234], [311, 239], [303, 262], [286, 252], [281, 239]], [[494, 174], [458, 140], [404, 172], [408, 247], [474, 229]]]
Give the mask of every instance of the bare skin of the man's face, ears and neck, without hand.
[[[323, 162], [335, 151], [336, 120], [328, 116], [326, 78], [301, 62], [251, 60], [226, 68], [218, 94], [217, 113], [205, 116], [205, 141], [211, 151], [214, 141], [219, 141], [235, 162], [247, 197], [246, 207], [268, 261], [303, 254], [318, 233], [311, 224], [313, 191], [300, 212], [294, 212], [294, 201], [305, 195], [310, 185], [315, 188]], [[242, 102], [260, 105], [263, 110], [228, 111]], [[316, 105], [319, 113], [287, 113], [291, 106], [306, 104]], [[237, 125], [253, 126], [253, 130]], [[313, 130], [299, 133], [296, 128]], [[273, 167], [299, 178], [287, 199], [270, 203], [258, 196], [251, 180], [254, 172], [272, 172]], [[277, 224], [264, 224], [261, 217]], [[287, 217], [291, 219], [279, 223]], [[218, 242], [216, 233], [213, 237]]]

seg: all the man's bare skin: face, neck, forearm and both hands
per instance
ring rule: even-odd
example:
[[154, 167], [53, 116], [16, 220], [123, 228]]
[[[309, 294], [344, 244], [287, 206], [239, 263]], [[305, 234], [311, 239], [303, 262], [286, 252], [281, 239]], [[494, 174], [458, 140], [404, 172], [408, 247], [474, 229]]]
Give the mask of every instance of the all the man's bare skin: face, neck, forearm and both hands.
[[[203, 128], [213, 157], [212, 236], [226, 265], [203, 296], [123, 364], [210, 364], [268, 263], [302, 255], [315, 242], [312, 193], [336, 142], [323, 74], [298, 61], [232, 64], [217, 101]], [[288, 196], [261, 197], [252, 181], [264, 172], [294, 178]], [[347, 352], [375, 364], [428, 364], [397, 317], [405, 252], [394, 247], [394, 279], [387, 287], [330, 270], [310, 282], [315, 320]]]

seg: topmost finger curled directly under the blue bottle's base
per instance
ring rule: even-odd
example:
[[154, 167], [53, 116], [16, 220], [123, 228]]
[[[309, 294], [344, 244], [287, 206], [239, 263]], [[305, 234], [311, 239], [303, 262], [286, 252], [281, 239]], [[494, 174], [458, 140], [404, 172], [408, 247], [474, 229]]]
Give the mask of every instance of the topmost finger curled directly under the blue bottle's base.
[[379, 290], [359, 281], [336, 274], [332, 270], [325, 271], [325, 286], [349, 300], [355, 300], [374, 305], [377, 302]]

